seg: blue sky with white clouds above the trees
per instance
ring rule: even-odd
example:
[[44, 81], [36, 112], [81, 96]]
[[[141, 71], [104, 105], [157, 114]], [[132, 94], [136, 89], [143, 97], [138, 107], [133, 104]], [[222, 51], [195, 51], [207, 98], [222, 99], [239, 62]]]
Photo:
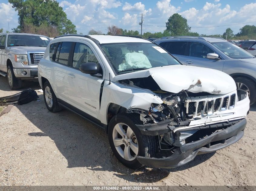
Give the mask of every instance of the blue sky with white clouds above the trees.
[[[75, 24], [77, 32], [83, 34], [87, 34], [91, 29], [107, 33], [109, 25], [140, 31], [141, 26], [138, 23], [141, 14], [145, 24], [142, 33], [163, 32], [166, 29], [165, 22], [174, 13], [185, 17], [191, 31], [199, 34], [223, 34], [228, 27], [236, 34], [246, 24], [256, 25], [256, 0], [57, 0], [57, 2], [67, 14], [67, 18]], [[0, 28], [3, 28], [4, 32], [8, 30], [8, 22], [10, 31], [17, 27], [18, 13], [8, 0], [0, 0]]]

